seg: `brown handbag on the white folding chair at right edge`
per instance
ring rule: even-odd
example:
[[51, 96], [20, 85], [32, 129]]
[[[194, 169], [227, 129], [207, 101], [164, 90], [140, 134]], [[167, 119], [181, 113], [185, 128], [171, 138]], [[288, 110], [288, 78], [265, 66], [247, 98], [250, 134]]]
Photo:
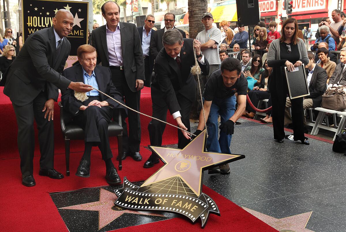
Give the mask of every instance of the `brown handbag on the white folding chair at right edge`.
[[346, 109], [346, 88], [345, 85], [329, 87], [322, 95], [321, 106], [330, 110], [342, 111]]

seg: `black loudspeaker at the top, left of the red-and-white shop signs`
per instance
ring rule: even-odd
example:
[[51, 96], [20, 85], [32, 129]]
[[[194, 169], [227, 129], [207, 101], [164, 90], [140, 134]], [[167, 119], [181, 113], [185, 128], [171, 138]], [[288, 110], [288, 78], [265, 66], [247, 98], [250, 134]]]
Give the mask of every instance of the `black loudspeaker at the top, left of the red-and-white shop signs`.
[[258, 0], [236, 0], [238, 27], [256, 25], [260, 22]]

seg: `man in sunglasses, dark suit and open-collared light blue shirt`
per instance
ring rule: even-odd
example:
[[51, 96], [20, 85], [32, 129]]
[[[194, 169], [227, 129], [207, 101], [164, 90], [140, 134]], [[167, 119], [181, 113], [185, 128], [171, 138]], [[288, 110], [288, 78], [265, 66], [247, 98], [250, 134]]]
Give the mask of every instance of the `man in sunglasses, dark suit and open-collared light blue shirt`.
[[144, 86], [150, 87], [151, 76], [154, 69], [154, 56], [150, 54], [149, 47], [151, 38], [155, 35], [156, 31], [154, 27], [155, 17], [153, 15], [147, 15], [144, 20], [143, 27], [137, 27], [140, 41], [142, 42], [143, 58], [144, 58]]

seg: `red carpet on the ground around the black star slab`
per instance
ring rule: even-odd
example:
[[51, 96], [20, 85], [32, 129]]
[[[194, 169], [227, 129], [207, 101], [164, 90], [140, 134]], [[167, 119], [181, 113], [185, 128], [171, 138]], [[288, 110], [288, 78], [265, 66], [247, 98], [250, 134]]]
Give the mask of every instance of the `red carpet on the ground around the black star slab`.
[[[140, 152], [144, 160], [151, 153], [145, 148], [141, 148]], [[34, 176], [36, 186], [34, 187], [21, 185], [18, 158], [0, 160], [0, 205], [2, 212], [0, 231], [67, 232], [64, 221], [49, 196], [49, 192], [107, 185], [104, 179], [105, 165], [101, 160], [99, 151], [92, 152], [91, 176], [89, 178], [74, 175], [81, 156], [81, 152], [71, 155], [71, 176], [65, 176], [60, 180], [39, 176], [39, 157], [35, 157]], [[115, 161], [115, 159], [113, 160]], [[154, 168], [145, 169], [142, 167], [143, 163], [144, 161], [136, 162], [128, 157], [123, 161], [124, 168], [119, 171], [120, 177], [126, 176], [132, 182], [144, 180], [160, 167], [157, 165]], [[54, 166], [58, 171], [64, 173], [64, 155], [55, 156]], [[204, 186], [203, 192], [215, 200], [221, 212], [221, 216], [210, 215], [204, 230], [201, 229], [200, 221], [192, 224], [189, 220], [176, 218], [124, 228], [120, 231], [276, 231], [210, 188]]]

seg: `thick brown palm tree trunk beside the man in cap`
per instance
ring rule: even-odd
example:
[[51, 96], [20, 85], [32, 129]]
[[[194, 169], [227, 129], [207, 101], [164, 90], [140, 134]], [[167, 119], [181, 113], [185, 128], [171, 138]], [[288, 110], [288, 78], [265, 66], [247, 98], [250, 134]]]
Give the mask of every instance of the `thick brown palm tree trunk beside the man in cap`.
[[197, 34], [204, 30], [204, 26], [201, 23], [202, 14], [208, 11], [207, 0], [189, 0], [189, 37], [191, 39], [196, 38]]

